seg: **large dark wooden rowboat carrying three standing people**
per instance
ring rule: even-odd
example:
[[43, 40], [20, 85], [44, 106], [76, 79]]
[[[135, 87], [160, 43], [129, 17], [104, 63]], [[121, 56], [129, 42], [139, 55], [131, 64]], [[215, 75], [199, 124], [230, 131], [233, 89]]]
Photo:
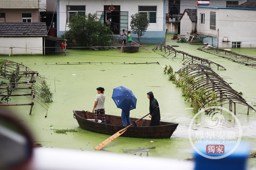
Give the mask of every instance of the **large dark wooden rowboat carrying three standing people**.
[[[117, 131], [124, 129], [121, 116], [106, 115], [106, 124], [94, 122], [94, 113], [89, 111], [73, 110], [74, 118], [77, 120], [82, 129], [89, 130], [96, 133], [113, 135]], [[99, 120], [101, 116], [99, 115]], [[137, 121], [137, 118], [130, 118], [131, 122]], [[123, 137], [137, 137], [137, 138], [170, 138], [172, 133], [176, 130], [178, 123], [162, 122], [160, 126], [149, 126], [150, 120], [142, 119], [134, 123], [123, 134]]]

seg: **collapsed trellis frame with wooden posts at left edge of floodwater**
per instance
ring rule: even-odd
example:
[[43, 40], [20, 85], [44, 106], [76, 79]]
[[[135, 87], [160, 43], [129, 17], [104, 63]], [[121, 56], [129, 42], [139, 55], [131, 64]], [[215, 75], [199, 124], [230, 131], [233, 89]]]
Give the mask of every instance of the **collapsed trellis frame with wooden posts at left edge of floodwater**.
[[[9, 60], [1, 60], [0, 63], [0, 106], [25, 106], [30, 105], [29, 115], [32, 113], [34, 101], [43, 103], [46, 107], [47, 100], [40, 96], [40, 88], [42, 88], [41, 82], [43, 78], [38, 72], [29, 69], [28, 67], [15, 63]], [[35, 76], [36, 75], [36, 76]], [[28, 97], [29, 103], [8, 103], [9, 97]], [[39, 102], [39, 100], [41, 102]], [[44, 107], [45, 108], [45, 107]], [[46, 108], [45, 108], [46, 109]], [[47, 109], [46, 109], [47, 110]]]

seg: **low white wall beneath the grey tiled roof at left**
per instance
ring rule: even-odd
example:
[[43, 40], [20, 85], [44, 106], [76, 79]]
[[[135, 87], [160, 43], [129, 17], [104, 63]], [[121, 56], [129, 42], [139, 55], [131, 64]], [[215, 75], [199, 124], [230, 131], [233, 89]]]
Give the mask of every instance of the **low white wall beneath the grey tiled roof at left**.
[[43, 55], [42, 37], [0, 37], [0, 55]]

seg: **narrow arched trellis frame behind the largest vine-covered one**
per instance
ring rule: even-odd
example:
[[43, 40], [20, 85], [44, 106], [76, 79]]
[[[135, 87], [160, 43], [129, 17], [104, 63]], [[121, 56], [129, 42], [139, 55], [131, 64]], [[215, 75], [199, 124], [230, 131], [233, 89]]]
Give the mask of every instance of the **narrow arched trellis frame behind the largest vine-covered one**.
[[[211, 64], [213, 64], [213, 65], [216, 65], [218, 67], [218, 70], [220, 68], [223, 68], [224, 70], [226, 70], [222, 65], [220, 65], [218, 63], [214, 63], [210, 60], [207, 60], [207, 59], [204, 59], [204, 58], [201, 58], [201, 57], [197, 57], [197, 56], [194, 56], [194, 55], [190, 55], [190, 54], [188, 54], [186, 52], [183, 52], [183, 51], [176, 50], [176, 49], [172, 48], [169, 45], [158, 45], [155, 48], [153, 48], [153, 51], [160, 54], [160, 55], [163, 55], [166, 58], [172, 57], [172, 59], [174, 59], [174, 57], [176, 57], [176, 55], [178, 53], [180, 53], [180, 54], [183, 55], [183, 60], [182, 61], [184, 61], [184, 63], [182, 63], [182, 65], [198, 63], [198, 64], [208, 64], [208, 66], [211, 67]], [[186, 57], [185, 57], [185, 55], [186, 55]]]

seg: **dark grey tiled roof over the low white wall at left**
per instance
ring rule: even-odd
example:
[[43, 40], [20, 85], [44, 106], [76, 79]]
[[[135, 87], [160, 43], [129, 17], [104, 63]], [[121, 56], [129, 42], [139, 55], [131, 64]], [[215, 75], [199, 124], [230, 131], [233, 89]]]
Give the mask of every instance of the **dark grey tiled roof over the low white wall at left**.
[[45, 37], [45, 22], [0, 22], [0, 37]]

